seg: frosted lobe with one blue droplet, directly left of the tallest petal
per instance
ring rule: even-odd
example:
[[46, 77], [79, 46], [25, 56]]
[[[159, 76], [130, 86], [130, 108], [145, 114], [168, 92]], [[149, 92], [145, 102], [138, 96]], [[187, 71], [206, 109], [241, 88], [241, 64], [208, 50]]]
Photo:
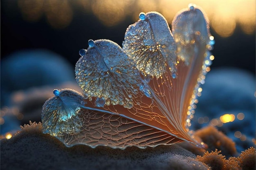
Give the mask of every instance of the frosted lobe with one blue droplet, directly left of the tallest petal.
[[166, 68], [175, 72], [176, 45], [166, 19], [157, 12], [140, 13], [139, 18], [126, 30], [124, 51], [145, 74], [159, 78]]

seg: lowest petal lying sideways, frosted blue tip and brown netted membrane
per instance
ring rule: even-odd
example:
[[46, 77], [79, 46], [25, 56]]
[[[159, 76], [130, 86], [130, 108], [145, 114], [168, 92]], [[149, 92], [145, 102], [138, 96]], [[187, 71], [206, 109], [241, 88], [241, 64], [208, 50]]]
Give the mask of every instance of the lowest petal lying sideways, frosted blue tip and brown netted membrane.
[[[83, 105], [85, 98], [74, 90], [63, 89], [58, 93], [43, 106], [43, 132], [57, 137], [68, 147], [85, 144], [93, 148], [145, 148], [181, 142], [180, 139], [137, 120], [97, 109], [90, 101]], [[66, 104], [65, 101], [73, 103], [67, 110], [70, 103]]]

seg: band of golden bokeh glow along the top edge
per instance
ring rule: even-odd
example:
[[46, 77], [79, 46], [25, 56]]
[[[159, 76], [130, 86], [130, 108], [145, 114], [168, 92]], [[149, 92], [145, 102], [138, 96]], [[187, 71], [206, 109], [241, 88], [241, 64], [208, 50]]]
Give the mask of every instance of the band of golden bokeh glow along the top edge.
[[[148, 11], [162, 13], [171, 24], [175, 14], [189, 3], [189, 0], [18, 0], [25, 20], [36, 22], [45, 15], [54, 28], [68, 26], [77, 7], [83, 7], [85, 13], [94, 13], [106, 26], [115, 26], [126, 17], [137, 21], [140, 12]], [[193, 3], [204, 9], [211, 27], [222, 37], [231, 36], [238, 25], [246, 34], [255, 32], [254, 0], [194, 0]]]

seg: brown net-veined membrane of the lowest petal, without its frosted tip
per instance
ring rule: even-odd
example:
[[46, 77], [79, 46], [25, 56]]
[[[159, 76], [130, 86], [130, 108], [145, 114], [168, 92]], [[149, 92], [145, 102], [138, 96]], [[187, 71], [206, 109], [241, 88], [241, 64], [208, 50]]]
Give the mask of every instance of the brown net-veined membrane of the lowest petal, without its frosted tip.
[[145, 148], [146, 146], [181, 142], [180, 139], [168, 133], [119, 115], [81, 109], [79, 119], [84, 122], [80, 133], [73, 135], [63, 133], [58, 136], [68, 147], [85, 144], [92, 148], [110, 146], [124, 149], [128, 146]]

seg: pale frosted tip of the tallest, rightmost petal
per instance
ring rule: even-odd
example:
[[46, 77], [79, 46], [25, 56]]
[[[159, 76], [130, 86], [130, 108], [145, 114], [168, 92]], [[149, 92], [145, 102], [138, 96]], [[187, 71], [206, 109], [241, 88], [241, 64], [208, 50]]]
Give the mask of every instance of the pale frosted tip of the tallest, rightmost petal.
[[200, 9], [189, 4], [189, 9], [180, 11], [173, 19], [172, 32], [177, 45], [177, 57], [186, 65], [198, 53], [200, 46], [209, 44], [209, 21]]

